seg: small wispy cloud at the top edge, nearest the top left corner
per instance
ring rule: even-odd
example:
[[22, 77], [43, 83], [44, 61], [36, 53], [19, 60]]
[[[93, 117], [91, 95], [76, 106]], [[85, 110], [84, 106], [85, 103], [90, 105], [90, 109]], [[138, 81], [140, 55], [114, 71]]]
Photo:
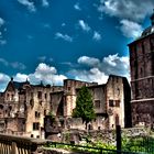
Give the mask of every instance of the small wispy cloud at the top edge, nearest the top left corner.
[[25, 6], [31, 12], [35, 12], [36, 8], [34, 6], [33, 1], [29, 1], [29, 0], [18, 0], [19, 3]]

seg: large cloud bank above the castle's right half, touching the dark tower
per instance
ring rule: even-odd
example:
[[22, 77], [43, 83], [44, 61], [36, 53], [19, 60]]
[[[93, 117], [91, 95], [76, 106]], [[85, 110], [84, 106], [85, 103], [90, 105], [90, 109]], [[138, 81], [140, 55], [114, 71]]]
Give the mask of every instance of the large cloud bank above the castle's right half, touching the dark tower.
[[103, 57], [102, 61], [82, 56], [78, 58], [78, 64], [90, 66], [90, 68], [73, 69], [68, 75], [74, 78], [86, 81], [97, 81], [105, 84], [109, 75], [124, 76], [130, 80], [129, 57], [119, 56], [118, 54]]

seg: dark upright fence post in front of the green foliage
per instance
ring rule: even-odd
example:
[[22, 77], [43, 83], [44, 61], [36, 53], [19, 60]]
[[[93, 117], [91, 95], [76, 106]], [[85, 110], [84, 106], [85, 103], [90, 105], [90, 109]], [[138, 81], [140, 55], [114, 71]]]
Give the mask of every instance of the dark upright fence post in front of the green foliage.
[[116, 134], [117, 134], [117, 153], [121, 153], [121, 127], [117, 125], [116, 127]]

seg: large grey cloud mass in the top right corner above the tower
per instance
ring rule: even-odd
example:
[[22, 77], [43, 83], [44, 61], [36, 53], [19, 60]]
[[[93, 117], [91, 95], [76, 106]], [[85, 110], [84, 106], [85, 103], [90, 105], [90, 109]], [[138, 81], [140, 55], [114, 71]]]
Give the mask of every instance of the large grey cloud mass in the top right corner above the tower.
[[127, 37], [138, 37], [142, 21], [154, 8], [153, 0], [100, 0], [98, 11], [120, 20], [120, 30]]

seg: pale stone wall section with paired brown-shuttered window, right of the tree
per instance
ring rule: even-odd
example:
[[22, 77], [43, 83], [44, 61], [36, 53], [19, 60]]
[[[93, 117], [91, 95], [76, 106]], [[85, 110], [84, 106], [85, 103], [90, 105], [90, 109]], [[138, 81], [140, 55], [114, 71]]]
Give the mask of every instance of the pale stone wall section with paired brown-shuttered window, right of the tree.
[[107, 113], [109, 129], [116, 129], [117, 124], [124, 128], [124, 98], [122, 77], [110, 76], [107, 82]]

